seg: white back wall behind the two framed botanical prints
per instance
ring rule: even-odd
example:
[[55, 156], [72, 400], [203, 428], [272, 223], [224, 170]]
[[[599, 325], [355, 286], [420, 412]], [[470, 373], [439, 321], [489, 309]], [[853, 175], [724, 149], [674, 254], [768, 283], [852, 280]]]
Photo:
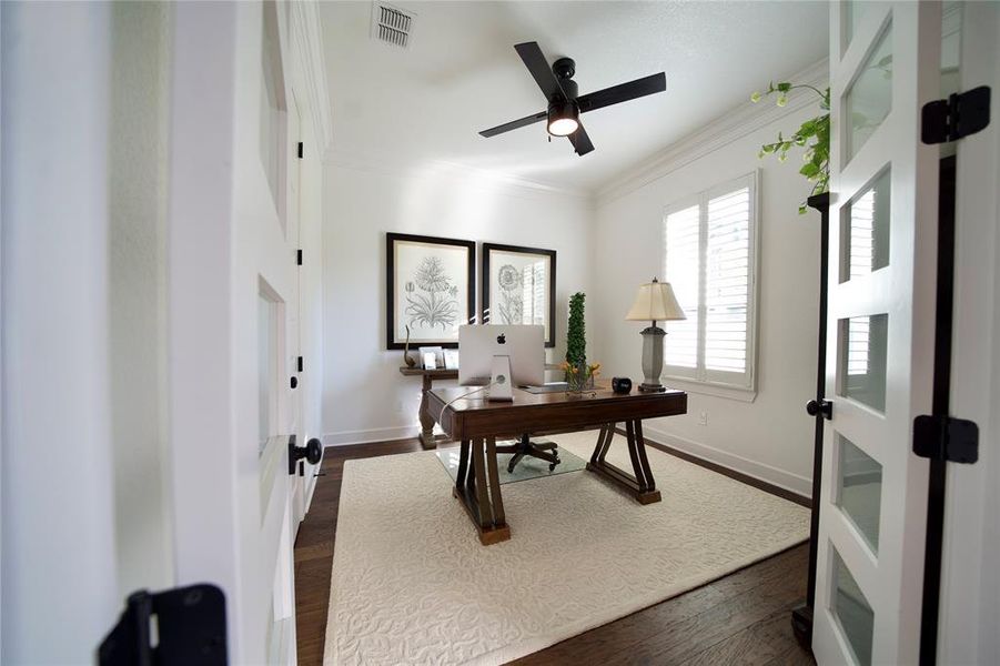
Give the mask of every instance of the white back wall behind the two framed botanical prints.
[[325, 180], [325, 445], [418, 432], [421, 380], [400, 375], [403, 353], [385, 350], [386, 232], [555, 250], [556, 347], [549, 359], [563, 357], [569, 295], [589, 294], [594, 283], [588, 199], [446, 168], [402, 173], [330, 163]]

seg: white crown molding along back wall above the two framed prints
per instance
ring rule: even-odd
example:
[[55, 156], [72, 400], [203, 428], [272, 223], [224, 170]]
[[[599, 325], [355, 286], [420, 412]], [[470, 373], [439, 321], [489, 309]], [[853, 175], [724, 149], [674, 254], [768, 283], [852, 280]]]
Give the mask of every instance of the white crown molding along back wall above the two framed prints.
[[583, 188], [566, 188], [521, 178], [502, 171], [469, 167], [446, 160], [416, 160], [373, 151], [356, 152], [331, 149], [323, 155], [329, 167], [367, 171], [398, 178], [441, 178], [492, 188], [515, 196], [566, 196], [593, 203], [593, 193]]

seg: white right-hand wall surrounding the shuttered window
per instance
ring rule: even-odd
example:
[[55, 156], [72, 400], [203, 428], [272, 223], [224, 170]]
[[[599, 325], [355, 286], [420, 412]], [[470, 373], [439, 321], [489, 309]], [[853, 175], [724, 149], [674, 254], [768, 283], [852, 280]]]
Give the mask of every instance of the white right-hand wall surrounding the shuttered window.
[[[766, 102], [761, 102], [764, 104]], [[749, 105], [749, 104], [748, 104]], [[663, 275], [663, 211], [677, 199], [760, 169], [757, 396], [752, 403], [690, 392], [688, 413], [650, 422], [645, 434], [691, 454], [774, 484], [810, 494], [812, 418], [819, 293], [819, 215], [799, 215], [809, 185], [797, 172], [798, 155], [786, 163], [758, 160], [760, 144], [779, 130], [790, 132], [816, 114], [816, 105], [754, 128], [754, 117], [734, 131], [723, 119], [673, 151], [651, 170], [637, 170], [607, 189], [598, 201], [594, 263], [600, 265], [592, 311], [597, 354], [606, 374], [642, 377], [642, 326], [624, 321], [638, 284]], [[754, 113], [757, 113], [756, 111]], [[776, 113], [760, 110], [760, 113]], [[756, 125], [760, 125], [757, 122]], [[725, 141], [719, 137], [730, 133]], [[607, 270], [614, 262], [616, 270]], [[669, 335], [666, 344], [670, 344]], [[665, 381], [665, 383], [669, 383]], [[708, 424], [698, 425], [700, 412]]]

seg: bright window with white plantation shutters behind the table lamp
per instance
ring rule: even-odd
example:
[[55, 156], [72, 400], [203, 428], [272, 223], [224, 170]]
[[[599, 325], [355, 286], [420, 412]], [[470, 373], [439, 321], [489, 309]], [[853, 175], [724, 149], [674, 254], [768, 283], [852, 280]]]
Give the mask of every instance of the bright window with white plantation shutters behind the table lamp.
[[687, 315], [667, 322], [667, 376], [754, 390], [757, 176], [667, 208], [664, 268]]

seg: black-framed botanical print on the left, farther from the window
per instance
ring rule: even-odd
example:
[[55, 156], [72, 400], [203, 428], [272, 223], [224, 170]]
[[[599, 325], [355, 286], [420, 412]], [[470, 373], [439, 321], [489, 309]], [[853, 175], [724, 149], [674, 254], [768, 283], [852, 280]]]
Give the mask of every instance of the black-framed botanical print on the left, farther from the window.
[[385, 349], [458, 346], [475, 320], [475, 242], [387, 233], [385, 250]]

